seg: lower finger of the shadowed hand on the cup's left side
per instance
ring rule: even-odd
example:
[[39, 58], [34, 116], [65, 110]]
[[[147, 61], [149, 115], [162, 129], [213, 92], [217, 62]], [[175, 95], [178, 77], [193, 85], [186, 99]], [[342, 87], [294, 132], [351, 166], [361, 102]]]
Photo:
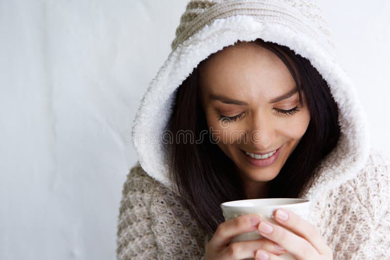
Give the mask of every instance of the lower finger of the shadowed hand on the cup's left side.
[[253, 258], [255, 251], [258, 249], [267, 250], [275, 255], [281, 255], [287, 252], [284, 249], [278, 249], [273, 241], [262, 238], [259, 240], [231, 243], [221, 251], [221, 259]]

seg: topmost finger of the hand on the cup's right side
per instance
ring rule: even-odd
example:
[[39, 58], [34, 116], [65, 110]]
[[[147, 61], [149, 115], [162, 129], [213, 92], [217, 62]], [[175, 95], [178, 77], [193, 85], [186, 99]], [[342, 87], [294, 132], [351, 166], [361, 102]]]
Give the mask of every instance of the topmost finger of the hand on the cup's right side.
[[309, 241], [321, 255], [328, 255], [330, 253], [331, 248], [327, 245], [326, 241], [320, 233], [318, 233], [312, 223], [306, 221], [288, 209], [275, 210], [273, 212], [273, 216], [277, 223], [280, 223], [282, 226], [287, 227], [298, 236]]

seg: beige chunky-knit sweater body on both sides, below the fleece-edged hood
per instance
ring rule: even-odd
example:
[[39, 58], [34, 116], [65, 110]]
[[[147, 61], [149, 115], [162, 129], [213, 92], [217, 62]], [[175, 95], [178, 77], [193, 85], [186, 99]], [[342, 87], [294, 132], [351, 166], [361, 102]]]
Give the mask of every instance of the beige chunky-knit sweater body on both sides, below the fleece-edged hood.
[[[389, 259], [390, 164], [372, 151], [356, 177], [312, 202], [311, 223], [335, 260]], [[139, 164], [123, 186], [117, 228], [117, 259], [204, 259], [212, 234], [203, 232], [188, 208]]]

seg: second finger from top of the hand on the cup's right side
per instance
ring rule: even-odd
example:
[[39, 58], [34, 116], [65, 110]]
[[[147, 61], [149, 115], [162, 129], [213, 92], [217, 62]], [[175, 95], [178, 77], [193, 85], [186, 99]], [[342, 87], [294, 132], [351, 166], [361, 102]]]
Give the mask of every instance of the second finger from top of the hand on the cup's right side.
[[280, 225], [262, 221], [259, 224], [259, 233], [278, 243], [298, 259], [316, 259], [319, 256], [311, 243]]

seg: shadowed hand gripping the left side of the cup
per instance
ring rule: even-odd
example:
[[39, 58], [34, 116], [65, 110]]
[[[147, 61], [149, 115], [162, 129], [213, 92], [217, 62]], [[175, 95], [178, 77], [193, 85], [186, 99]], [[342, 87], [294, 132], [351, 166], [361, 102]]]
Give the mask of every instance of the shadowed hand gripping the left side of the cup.
[[214, 236], [206, 245], [205, 259], [238, 260], [254, 258], [255, 252], [258, 249], [264, 249], [275, 255], [286, 253], [286, 250], [279, 250], [275, 246], [275, 242], [266, 238], [252, 241], [234, 242], [228, 245], [235, 236], [241, 233], [257, 230], [260, 220], [260, 216], [249, 214], [220, 223], [214, 233]]

